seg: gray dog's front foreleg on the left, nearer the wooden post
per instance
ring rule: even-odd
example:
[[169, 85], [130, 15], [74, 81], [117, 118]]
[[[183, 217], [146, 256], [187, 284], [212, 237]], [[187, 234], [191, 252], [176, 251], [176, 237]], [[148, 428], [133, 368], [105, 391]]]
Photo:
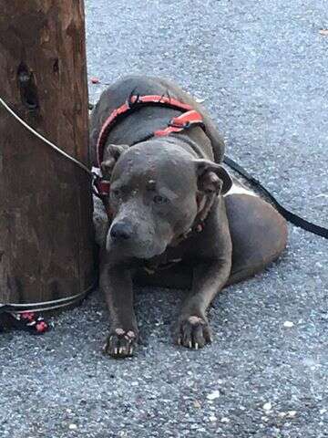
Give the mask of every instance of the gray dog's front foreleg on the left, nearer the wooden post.
[[131, 356], [138, 341], [131, 272], [124, 266], [104, 264], [100, 287], [105, 293], [111, 319], [104, 352], [115, 358]]

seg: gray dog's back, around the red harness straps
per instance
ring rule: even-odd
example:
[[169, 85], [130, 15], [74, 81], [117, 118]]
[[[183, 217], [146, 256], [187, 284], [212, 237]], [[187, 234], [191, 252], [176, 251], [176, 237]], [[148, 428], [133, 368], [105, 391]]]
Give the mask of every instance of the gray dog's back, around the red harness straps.
[[[202, 135], [197, 143], [203, 145], [204, 156], [215, 162], [221, 162], [224, 154], [224, 141], [210, 116], [201, 105], [188, 93], [167, 79], [129, 76], [122, 78], [106, 89], [92, 111], [90, 118], [90, 153], [92, 164], [97, 165], [97, 139], [100, 130], [114, 110], [118, 110], [131, 96], [165, 96], [177, 99], [183, 104], [189, 104], [197, 110], [204, 122], [206, 141], [203, 131], [190, 130], [190, 135]], [[166, 126], [169, 120], [179, 116], [180, 111], [165, 106], [153, 105], [138, 108], [128, 117], [122, 117], [108, 135], [108, 143], [132, 145], [141, 141], [150, 132]]]

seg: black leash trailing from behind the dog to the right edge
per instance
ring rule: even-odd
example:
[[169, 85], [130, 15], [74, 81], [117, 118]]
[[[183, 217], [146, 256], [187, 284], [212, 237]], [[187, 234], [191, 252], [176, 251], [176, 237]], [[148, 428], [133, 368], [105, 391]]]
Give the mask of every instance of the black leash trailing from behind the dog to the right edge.
[[223, 162], [227, 164], [229, 167], [231, 167], [232, 170], [238, 172], [241, 176], [243, 176], [247, 181], [249, 181], [254, 187], [261, 191], [261, 193], [264, 193], [265, 196], [269, 198], [269, 200], [273, 203], [277, 211], [282, 214], [282, 216], [291, 224], [294, 224], [295, 226], [298, 226], [302, 228], [305, 231], [309, 231], [310, 233], [313, 233], [313, 235], [320, 235], [321, 237], [324, 237], [325, 239], [328, 239], [328, 229], [323, 228], [323, 226], [312, 224], [311, 222], [307, 221], [306, 219], [303, 219], [302, 217], [298, 216], [297, 214], [293, 214], [289, 210], [286, 210], [281, 203], [278, 203], [278, 201], [275, 199], [275, 197], [272, 195], [272, 193], [268, 192], [268, 190], [262, 186], [259, 180], [251, 176], [251, 174], [243, 167], [241, 167], [240, 164], [235, 162], [229, 157], [224, 157]]

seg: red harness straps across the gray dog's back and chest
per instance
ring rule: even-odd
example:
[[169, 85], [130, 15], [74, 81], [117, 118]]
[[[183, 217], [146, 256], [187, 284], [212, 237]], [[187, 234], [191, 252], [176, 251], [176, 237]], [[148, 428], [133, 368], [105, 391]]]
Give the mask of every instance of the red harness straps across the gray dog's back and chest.
[[[201, 126], [204, 129], [204, 122], [199, 112], [193, 110], [192, 107], [186, 103], [179, 102], [177, 99], [168, 98], [165, 96], [130, 96], [128, 101], [124, 103], [117, 110], [113, 110], [111, 114], [108, 116], [108, 119], [105, 120], [98, 139], [97, 139], [97, 163], [100, 167], [101, 162], [103, 161], [105, 144], [108, 139], [108, 134], [110, 130], [113, 129], [114, 125], [118, 123], [124, 117], [127, 117], [133, 111], [137, 110], [140, 107], [145, 106], [162, 106], [169, 107], [173, 110], [180, 110], [183, 113], [169, 120], [168, 126], [162, 130], [155, 130], [152, 132], [147, 139], [151, 137], [164, 137], [173, 132], [180, 132], [181, 130], [187, 130], [193, 126]], [[104, 179], [97, 179], [95, 182], [97, 187], [97, 192], [100, 197], [104, 200], [104, 197], [108, 196], [110, 183]]]

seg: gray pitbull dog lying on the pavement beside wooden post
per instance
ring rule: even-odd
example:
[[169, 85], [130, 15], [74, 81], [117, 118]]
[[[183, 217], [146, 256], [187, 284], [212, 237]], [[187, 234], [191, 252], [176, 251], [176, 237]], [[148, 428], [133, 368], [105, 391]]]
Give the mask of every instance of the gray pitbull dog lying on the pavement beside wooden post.
[[[113, 111], [145, 96], [162, 100], [135, 105], [104, 129]], [[174, 99], [197, 111], [199, 123], [187, 120], [179, 130], [175, 118], [186, 110], [163, 103]], [[190, 349], [204, 347], [211, 341], [210, 302], [222, 287], [255, 274], [281, 254], [284, 220], [241, 185], [232, 187], [220, 164], [224, 142], [218, 130], [189, 94], [167, 80], [119, 80], [101, 95], [90, 125], [93, 164], [110, 182], [105, 200], [110, 212], [105, 214], [96, 199], [94, 213], [100, 287], [111, 319], [105, 352], [123, 358], [138, 343], [134, 281], [188, 287], [174, 341]]]

